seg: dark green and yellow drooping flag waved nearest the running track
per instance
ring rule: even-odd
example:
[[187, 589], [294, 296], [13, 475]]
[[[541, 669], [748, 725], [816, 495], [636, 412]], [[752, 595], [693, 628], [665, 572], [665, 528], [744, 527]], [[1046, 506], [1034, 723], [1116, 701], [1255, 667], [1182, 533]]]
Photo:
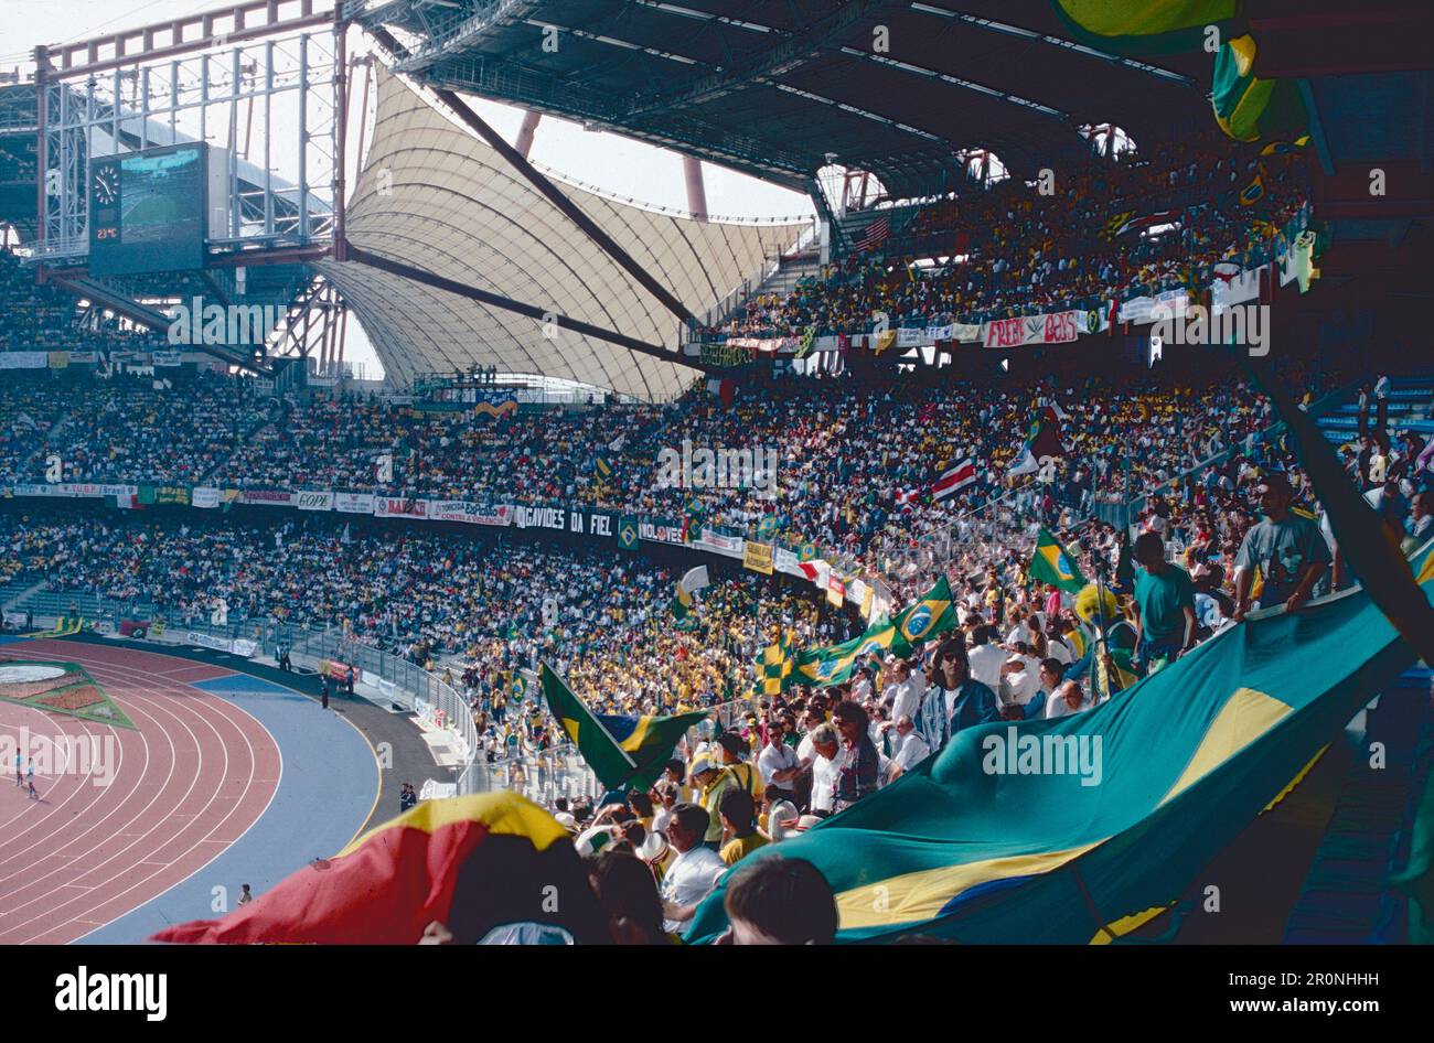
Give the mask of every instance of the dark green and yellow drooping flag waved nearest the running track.
[[594, 713], [548, 663], [542, 665], [541, 679], [548, 709], [608, 789], [651, 787], [677, 741], [707, 716], [703, 711], [678, 716]]

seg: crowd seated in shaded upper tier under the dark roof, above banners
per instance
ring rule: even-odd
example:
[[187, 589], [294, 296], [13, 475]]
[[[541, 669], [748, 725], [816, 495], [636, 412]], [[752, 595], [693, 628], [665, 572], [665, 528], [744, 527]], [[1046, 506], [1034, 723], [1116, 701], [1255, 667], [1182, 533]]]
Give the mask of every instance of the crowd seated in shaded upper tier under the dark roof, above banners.
[[[893, 325], [939, 325], [1101, 308], [1269, 249], [1308, 198], [1298, 152], [1232, 155], [1228, 140], [1207, 136], [1162, 146], [1157, 160], [1126, 153], [1057, 172], [1048, 195], [1008, 178], [916, 209], [898, 232], [790, 294], [753, 297], [717, 332], [853, 334], [876, 312]], [[1126, 221], [1134, 225], [1121, 232]]]

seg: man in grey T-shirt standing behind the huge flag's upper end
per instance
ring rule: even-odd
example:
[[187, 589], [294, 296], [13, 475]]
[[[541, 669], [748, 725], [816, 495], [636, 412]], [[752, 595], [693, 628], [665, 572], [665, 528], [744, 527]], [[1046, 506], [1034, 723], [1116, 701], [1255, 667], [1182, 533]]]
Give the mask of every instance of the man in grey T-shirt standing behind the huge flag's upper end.
[[1329, 544], [1314, 519], [1291, 509], [1295, 491], [1289, 479], [1271, 471], [1256, 489], [1265, 520], [1250, 526], [1235, 559], [1235, 622], [1250, 609], [1250, 589], [1258, 572], [1265, 582], [1259, 607], [1283, 605], [1298, 612], [1309, 600], [1315, 583], [1329, 567]]

